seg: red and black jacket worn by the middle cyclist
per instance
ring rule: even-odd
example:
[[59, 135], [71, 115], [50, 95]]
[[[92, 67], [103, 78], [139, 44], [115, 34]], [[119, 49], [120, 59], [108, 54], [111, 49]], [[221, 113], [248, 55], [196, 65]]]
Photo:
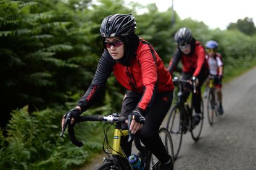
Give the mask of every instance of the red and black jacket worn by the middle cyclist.
[[185, 55], [179, 49], [176, 49], [176, 52], [173, 55], [173, 59], [170, 60], [168, 71], [172, 73], [180, 60], [183, 64], [182, 71], [193, 73], [193, 76], [198, 76], [202, 68], [208, 69], [209, 67], [205, 59], [204, 47], [200, 44], [199, 41], [196, 41], [194, 49], [191, 49], [191, 51], [191, 53]]

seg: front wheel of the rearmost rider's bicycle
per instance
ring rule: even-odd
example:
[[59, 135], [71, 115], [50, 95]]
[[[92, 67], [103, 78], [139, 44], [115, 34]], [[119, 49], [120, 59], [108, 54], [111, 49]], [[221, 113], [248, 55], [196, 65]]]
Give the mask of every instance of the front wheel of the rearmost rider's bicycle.
[[210, 90], [209, 95], [207, 97], [207, 117], [210, 125], [213, 125], [214, 116], [215, 116], [215, 99], [213, 96], [213, 91]]

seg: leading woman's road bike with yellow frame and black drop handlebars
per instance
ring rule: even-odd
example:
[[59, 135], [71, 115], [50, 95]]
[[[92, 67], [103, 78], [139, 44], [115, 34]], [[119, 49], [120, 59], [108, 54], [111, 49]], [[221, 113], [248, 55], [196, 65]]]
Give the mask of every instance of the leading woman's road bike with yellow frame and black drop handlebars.
[[[68, 115], [69, 114], [69, 115]], [[70, 119], [72, 115], [67, 113], [65, 115], [65, 123], [64, 129], [62, 129], [62, 133], [60, 136], [62, 137], [65, 129], [68, 124], [68, 134], [70, 136], [70, 140], [73, 144], [78, 147], [83, 145], [82, 142], [76, 139], [75, 132], [74, 132], [74, 125], [70, 124]], [[83, 121], [104, 121], [104, 142], [102, 145], [102, 149], [106, 154], [106, 157], [103, 158], [103, 163], [100, 166], [97, 166], [95, 169], [123, 169], [129, 170], [134, 169], [133, 166], [130, 164], [128, 160], [128, 156], [122, 150], [120, 146], [121, 137], [128, 136], [129, 139], [134, 138], [134, 144], [138, 149], [138, 156], [141, 160], [141, 169], [160, 169], [160, 161], [150, 152], [147, 150], [144, 145], [141, 144], [139, 138], [135, 135], [131, 135], [130, 131], [122, 130], [121, 124], [125, 123], [126, 117], [120, 116], [118, 113], [112, 113], [109, 116], [99, 116], [99, 115], [91, 115], [91, 116], [80, 116], [76, 119], [76, 123], [81, 123]], [[130, 127], [131, 117], [128, 116], [128, 127]], [[113, 145], [110, 145], [110, 141], [107, 137], [107, 133], [109, 132], [110, 127], [115, 127], [114, 129], [114, 137], [113, 137]], [[170, 132], [165, 127], [160, 128], [159, 130], [160, 138], [162, 139], [163, 145], [168, 152], [168, 155], [171, 156], [171, 161], [173, 162], [173, 143], [171, 139]], [[105, 147], [106, 146], [106, 147]], [[110, 149], [110, 150], [109, 150]], [[173, 167], [172, 167], [173, 168]]]

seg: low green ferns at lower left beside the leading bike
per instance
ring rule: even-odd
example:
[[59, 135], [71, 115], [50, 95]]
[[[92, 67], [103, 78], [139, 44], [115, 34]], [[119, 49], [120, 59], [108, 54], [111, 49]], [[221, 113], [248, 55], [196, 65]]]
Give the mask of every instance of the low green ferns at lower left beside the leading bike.
[[[91, 134], [96, 135], [101, 131], [98, 123], [76, 125], [76, 136], [84, 142], [83, 147], [78, 148], [70, 142], [67, 133], [64, 138], [59, 137], [61, 117], [60, 111], [49, 108], [35, 111], [31, 115], [28, 114], [27, 107], [13, 111], [7, 126], [7, 137], [1, 132], [0, 167], [68, 169], [85, 163], [92, 153], [101, 150], [102, 140], [99, 143], [97, 138], [88, 139]], [[99, 136], [99, 139], [102, 137]]]

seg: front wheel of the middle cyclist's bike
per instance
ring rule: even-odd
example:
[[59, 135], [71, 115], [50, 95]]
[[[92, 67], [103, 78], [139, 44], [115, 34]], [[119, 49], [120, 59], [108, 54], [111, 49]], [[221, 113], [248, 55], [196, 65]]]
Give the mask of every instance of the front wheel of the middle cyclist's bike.
[[183, 131], [182, 131], [182, 116], [181, 110], [178, 105], [174, 105], [170, 110], [170, 114], [167, 122], [167, 129], [171, 134], [171, 138], [173, 141], [173, 155], [174, 160], [178, 158], [178, 154], [180, 152]]

